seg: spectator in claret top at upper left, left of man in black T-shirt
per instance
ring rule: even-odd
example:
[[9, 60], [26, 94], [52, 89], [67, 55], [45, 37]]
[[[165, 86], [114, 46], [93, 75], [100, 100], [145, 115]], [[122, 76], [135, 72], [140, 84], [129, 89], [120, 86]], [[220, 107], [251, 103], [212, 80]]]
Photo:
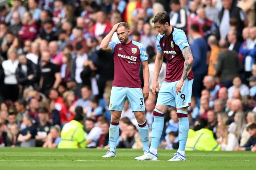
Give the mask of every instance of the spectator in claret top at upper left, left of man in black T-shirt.
[[26, 40], [34, 40], [36, 38], [37, 27], [33, 24], [32, 15], [29, 12], [24, 14], [22, 20], [22, 28], [18, 33], [18, 36], [25, 42]]

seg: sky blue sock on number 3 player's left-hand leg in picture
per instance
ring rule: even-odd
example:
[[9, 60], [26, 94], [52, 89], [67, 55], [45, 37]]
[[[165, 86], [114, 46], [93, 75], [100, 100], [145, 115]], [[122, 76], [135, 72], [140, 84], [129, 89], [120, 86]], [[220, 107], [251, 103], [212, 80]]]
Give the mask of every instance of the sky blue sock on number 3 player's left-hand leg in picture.
[[116, 153], [116, 142], [119, 137], [119, 122], [110, 122], [109, 127], [109, 146], [110, 151]]

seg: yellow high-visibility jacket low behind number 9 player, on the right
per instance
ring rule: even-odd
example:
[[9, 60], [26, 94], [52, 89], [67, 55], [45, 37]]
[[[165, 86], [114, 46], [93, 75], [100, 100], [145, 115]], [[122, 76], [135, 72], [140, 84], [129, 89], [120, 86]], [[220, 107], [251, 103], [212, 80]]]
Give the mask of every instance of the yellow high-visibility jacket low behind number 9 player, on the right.
[[202, 128], [195, 132], [190, 129], [185, 150], [220, 151], [220, 145], [214, 139], [211, 130]]

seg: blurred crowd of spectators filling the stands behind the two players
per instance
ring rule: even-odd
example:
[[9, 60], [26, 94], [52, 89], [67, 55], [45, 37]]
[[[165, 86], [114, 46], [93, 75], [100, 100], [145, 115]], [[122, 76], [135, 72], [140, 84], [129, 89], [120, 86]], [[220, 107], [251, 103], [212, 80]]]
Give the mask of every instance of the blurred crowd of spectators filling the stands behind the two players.
[[[99, 45], [114, 24], [128, 22], [131, 40], [146, 48], [152, 88], [158, 32], [151, 20], [165, 10], [171, 25], [186, 33], [194, 57], [187, 149], [207, 150], [212, 142], [218, 150], [256, 151], [254, 0], [4, 2], [0, 4], [0, 146], [58, 147], [63, 126], [78, 121], [86, 147], [109, 148], [114, 61], [112, 53]], [[112, 41], [118, 41], [117, 34]], [[164, 59], [160, 87], [165, 73]], [[142, 69], [140, 75], [143, 87]], [[156, 99], [150, 92], [145, 101], [150, 129]], [[178, 124], [176, 110], [170, 108], [161, 148], [178, 148]], [[119, 125], [118, 148], [142, 149], [128, 101]], [[208, 142], [200, 142], [203, 133], [210, 134]]]

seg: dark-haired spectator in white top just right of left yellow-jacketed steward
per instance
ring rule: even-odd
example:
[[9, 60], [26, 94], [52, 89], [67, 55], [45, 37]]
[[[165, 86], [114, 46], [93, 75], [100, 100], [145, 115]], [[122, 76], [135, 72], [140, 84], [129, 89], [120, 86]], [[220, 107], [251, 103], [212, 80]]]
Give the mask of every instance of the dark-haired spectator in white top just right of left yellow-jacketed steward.
[[87, 148], [96, 148], [97, 142], [102, 134], [102, 130], [100, 127], [96, 127], [94, 124], [94, 120], [90, 118], [86, 119], [85, 126]]

